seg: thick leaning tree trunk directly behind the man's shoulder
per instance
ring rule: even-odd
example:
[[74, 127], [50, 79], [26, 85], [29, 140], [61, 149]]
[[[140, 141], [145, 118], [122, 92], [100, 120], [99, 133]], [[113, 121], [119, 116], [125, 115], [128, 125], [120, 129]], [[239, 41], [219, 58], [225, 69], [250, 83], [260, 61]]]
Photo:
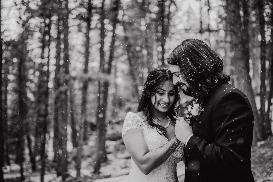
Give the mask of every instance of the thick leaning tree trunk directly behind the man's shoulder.
[[[244, 2], [244, 0], [243, 0]], [[251, 107], [254, 113], [255, 126], [257, 129], [261, 123], [258, 110], [255, 103], [255, 97], [251, 86], [251, 78], [249, 76], [249, 50], [248, 50], [248, 18], [247, 5], [243, 5], [244, 9], [244, 22], [241, 22], [239, 2], [227, 0], [226, 12], [227, 12], [227, 26], [229, 27], [229, 33], [231, 35], [231, 47], [234, 51], [234, 57], [231, 60], [231, 66], [234, 66], [235, 75], [237, 76], [238, 88], [241, 89], [248, 97]], [[244, 29], [241, 30], [241, 25], [244, 23]], [[238, 26], [239, 25], [239, 26]], [[261, 136], [257, 130], [254, 131], [255, 140], [260, 141]]]

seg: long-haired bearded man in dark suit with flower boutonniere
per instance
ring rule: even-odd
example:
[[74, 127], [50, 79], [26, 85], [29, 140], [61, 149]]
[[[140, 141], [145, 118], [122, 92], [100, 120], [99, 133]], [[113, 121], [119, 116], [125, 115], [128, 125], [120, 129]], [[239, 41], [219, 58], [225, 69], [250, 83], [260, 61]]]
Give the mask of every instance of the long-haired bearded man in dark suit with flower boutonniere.
[[174, 85], [194, 97], [190, 125], [177, 120], [185, 143], [185, 182], [253, 182], [251, 144], [254, 117], [242, 91], [227, 83], [223, 61], [207, 44], [187, 39], [167, 58]]

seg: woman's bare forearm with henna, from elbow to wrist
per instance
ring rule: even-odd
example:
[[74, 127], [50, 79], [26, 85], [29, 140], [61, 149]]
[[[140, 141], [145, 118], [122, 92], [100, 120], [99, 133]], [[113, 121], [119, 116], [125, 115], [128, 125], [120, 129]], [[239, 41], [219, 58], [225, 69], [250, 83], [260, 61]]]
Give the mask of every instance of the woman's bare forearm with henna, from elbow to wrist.
[[151, 170], [160, 166], [168, 159], [168, 157], [170, 157], [170, 155], [174, 152], [179, 143], [180, 141], [177, 140], [176, 136], [174, 136], [164, 146], [160, 147], [155, 151], [146, 153], [143, 156], [146, 160], [141, 165], [141, 171], [144, 174], [149, 174]]

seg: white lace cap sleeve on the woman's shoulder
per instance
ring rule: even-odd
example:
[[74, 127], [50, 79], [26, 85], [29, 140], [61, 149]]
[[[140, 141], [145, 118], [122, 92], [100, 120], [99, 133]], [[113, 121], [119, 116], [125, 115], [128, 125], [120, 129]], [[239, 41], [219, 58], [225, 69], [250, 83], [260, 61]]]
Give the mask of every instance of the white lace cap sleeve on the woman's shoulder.
[[142, 130], [143, 128], [143, 119], [139, 117], [137, 113], [127, 113], [124, 123], [123, 123], [123, 128], [122, 128], [122, 137], [123, 135], [126, 134], [126, 131], [136, 128]]

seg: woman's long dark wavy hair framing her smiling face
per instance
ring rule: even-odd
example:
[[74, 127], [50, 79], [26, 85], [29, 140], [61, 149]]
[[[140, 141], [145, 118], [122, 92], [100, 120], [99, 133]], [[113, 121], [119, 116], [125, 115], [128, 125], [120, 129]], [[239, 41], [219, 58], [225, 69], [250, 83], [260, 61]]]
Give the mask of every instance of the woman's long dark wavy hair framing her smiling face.
[[[157, 89], [162, 87], [167, 80], [170, 81], [173, 80], [173, 75], [171, 74], [169, 69], [159, 67], [150, 71], [149, 75], [147, 76], [147, 80], [144, 83], [144, 88], [140, 95], [140, 100], [137, 107], [137, 112], [143, 113], [143, 115], [147, 118], [147, 123], [150, 126], [157, 127], [157, 129], [159, 129], [160, 131], [165, 131], [164, 133], [166, 133], [166, 129], [162, 126], [154, 124], [152, 121], [153, 118], [152, 110], [154, 108], [154, 104], [152, 104], [151, 97], [155, 96]], [[180, 101], [178, 87], [174, 86], [174, 88], [175, 88], [174, 103], [170, 106], [169, 110], [167, 111], [167, 116], [170, 117], [172, 122], [176, 120], [174, 119], [174, 116], [177, 116], [176, 108]], [[155, 99], [157, 99], [156, 96]]]

